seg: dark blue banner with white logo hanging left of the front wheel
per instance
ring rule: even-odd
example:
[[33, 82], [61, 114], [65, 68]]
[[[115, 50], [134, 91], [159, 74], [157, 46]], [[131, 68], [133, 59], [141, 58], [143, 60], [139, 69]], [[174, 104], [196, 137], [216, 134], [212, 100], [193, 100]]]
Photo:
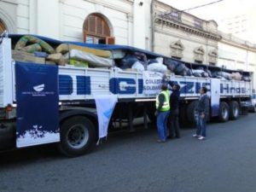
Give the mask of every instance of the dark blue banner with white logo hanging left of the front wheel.
[[17, 147], [60, 141], [58, 67], [16, 62]]

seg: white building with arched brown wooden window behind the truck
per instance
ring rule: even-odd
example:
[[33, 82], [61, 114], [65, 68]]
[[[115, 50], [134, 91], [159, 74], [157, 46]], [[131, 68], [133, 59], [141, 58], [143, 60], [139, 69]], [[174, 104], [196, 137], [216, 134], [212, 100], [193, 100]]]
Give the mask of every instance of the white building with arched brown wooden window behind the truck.
[[144, 49], [150, 35], [146, 9], [150, 10], [150, 3], [139, 0], [3, 0], [0, 32], [6, 28], [13, 33]]

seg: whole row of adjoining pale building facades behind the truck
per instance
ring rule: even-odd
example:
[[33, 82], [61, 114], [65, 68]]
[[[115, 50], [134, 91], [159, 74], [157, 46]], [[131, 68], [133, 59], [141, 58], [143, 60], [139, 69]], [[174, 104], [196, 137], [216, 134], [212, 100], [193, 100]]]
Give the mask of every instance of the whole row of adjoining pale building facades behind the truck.
[[182, 61], [256, 73], [256, 45], [219, 32], [214, 20], [160, 0], [2, 0], [0, 32], [5, 29], [65, 41], [131, 45]]

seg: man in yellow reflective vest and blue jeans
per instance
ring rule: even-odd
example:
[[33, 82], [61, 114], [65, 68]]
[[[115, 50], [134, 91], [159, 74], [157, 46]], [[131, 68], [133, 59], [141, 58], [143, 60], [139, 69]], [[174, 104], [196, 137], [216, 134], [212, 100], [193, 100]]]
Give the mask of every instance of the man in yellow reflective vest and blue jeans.
[[157, 116], [157, 130], [159, 134], [158, 143], [165, 143], [167, 137], [167, 120], [170, 113], [170, 94], [167, 90], [167, 85], [163, 84], [161, 92], [156, 96], [156, 116]]

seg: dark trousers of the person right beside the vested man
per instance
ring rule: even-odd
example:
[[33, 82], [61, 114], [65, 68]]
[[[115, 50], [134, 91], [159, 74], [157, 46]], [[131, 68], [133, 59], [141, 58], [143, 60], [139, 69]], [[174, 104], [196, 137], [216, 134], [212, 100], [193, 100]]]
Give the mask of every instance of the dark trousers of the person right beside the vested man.
[[169, 116], [169, 137], [180, 137], [179, 134], [179, 123], [178, 123], [178, 109], [172, 110]]

